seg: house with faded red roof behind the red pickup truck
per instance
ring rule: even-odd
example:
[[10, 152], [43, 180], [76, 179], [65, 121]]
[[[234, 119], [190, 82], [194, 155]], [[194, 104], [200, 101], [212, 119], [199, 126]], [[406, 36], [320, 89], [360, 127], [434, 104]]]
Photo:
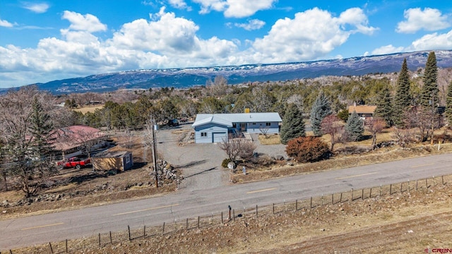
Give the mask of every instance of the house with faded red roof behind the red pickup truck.
[[80, 155], [83, 150], [93, 150], [104, 144], [105, 133], [90, 126], [68, 126], [59, 128], [52, 135], [55, 150], [63, 157]]

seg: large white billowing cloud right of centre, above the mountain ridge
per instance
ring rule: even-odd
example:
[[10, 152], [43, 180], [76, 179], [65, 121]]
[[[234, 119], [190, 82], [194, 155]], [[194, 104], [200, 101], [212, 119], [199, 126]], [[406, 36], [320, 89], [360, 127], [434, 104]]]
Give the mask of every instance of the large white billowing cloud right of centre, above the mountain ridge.
[[268, 35], [254, 41], [249, 57], [254, 59], [251, 62], [265, 63], [319, 59], [346, 42], [353, 33], [371, 34], [376, 30], [367, 23], [367, 16], [359, 8], [348, 9], [338, 18], [313, 8], [296, 13], [293, 19], [276, 21]]

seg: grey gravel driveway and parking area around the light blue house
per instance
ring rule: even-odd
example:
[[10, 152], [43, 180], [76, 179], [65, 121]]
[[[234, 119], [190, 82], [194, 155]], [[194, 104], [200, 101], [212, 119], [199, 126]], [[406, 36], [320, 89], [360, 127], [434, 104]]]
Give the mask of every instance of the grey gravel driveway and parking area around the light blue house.
[[[184, 181], [180, 191], [206, 190], [229, 184], [229, 169], [223, 169], [221, 162], [226, 158], [218, 144], [185, 144], [179, 146], [180, 131], [192, 131], [191, 123], [157, 131], [157, 152], [163, 159], [182, 171]], [[261, 145], [257, 135], [251, 135], [256, 152], [270, 156], [284, 155], [285, 145]]]

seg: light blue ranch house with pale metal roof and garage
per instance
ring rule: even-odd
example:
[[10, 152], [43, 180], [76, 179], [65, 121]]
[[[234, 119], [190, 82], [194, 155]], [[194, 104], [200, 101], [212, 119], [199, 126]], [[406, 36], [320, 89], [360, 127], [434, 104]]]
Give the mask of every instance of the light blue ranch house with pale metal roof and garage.
[[195, 143], [220, 143], [238, 133], [279, 133], [281, 121], [277, 112], [198, 114], [192, 127]]

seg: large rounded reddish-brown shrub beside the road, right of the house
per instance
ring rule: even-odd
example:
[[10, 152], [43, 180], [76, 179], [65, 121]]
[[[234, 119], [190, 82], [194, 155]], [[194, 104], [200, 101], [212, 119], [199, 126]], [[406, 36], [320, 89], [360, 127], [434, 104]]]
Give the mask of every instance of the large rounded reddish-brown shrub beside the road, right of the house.
[[328, 145], [318, 137], [299, 137], [289, 140], [285, 152], [297, 162], [318, 162], [330, 153]]

